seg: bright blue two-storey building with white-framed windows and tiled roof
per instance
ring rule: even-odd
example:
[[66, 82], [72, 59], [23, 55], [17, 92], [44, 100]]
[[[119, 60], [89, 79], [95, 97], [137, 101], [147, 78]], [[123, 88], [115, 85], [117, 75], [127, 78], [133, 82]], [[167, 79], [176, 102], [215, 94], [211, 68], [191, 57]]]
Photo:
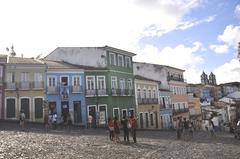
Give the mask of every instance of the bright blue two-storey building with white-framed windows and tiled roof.
[[57, 122], [70, 115], [72, 123], [86, 126], [84, 70], [65, 62], [44, 60], [47, 64], [46, 98], [48, 112], [57, 113]]

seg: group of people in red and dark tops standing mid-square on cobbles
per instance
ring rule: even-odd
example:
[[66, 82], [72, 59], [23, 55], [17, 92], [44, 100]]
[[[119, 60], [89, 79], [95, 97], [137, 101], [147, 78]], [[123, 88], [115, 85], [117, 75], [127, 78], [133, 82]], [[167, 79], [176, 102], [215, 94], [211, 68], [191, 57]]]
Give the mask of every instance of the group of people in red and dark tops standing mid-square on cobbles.
[[114, 119], [108, 119], [108, 129], [109, 129], [109, 138], [111, 141], [119, 142], [120, 138], [120, 128], [123, 129], [124, 141], [129, 142], [129, 133], [131, 133], [133, 137], [134, 143], [137, 142], [136, 139], [136, 129], [137, 129], [137, 119], [131, 115], [127, 118], [126, 115], [123, 116], [121, 122], [117, 117]]

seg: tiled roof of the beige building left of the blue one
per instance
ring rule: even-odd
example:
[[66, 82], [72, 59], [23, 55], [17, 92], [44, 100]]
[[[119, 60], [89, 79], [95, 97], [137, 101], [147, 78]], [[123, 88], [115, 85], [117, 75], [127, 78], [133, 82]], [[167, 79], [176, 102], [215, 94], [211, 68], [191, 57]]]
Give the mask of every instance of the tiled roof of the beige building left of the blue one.
[[9, 57], [8, 59], [9, 64], [39, 64], [42, 65], [43, 63], [35, 60], [34, 58], [24, 58], [24, 57]]

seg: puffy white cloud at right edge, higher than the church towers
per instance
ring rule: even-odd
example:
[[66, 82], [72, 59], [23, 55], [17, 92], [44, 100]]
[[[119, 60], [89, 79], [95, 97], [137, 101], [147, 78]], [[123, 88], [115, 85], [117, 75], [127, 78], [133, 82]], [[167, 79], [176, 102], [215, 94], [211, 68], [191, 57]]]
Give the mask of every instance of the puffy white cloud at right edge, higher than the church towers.
[[223, 34], [218, 35], [217, 40], [219, 43], [223, 44], [212, 44], [209, 46], [215, 53], [227, 53], [230, 47], [234, 47], [236, 49], [238, 42], [240, 42], [240, 26], [226, 26]]

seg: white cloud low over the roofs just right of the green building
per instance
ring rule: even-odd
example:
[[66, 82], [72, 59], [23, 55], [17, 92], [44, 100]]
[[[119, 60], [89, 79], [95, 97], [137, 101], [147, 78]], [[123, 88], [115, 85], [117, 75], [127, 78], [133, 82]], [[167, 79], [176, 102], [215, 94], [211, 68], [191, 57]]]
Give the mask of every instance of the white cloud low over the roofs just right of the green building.
[[184, 69], [187, 82], [199, 83], [202, 70], [198, 70], [197, 65], [202, 64], [204, 59], [198, 55], [198, 52], [202, 49], [200, 42], [194, 42], [192, 47], [177, 45], [174, 48], [165, 47], [162, 50], [153, 45], [146, 45], [143, 51], [134, 57], [134, 60]]

